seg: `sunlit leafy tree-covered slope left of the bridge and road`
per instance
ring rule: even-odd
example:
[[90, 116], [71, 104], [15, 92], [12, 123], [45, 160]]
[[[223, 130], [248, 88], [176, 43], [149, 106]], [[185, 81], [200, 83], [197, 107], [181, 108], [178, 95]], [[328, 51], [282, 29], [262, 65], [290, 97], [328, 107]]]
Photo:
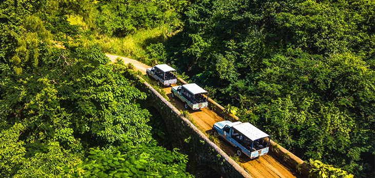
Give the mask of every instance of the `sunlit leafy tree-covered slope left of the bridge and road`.
[[67, 16], [88, 1], [0, 3], [1, 177], [191, 177], [187, 155], [158, 146], [134, 71], [96, 45], [56, 48], [83, 34]]

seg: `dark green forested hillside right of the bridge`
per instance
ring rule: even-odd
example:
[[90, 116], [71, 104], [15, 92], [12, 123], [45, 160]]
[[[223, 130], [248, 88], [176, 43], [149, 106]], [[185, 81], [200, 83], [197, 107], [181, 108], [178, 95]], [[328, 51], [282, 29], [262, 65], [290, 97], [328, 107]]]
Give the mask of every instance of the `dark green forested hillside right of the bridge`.
[[374, 1], [193, 1], [168, 62], [303, 160], [374, 175]]

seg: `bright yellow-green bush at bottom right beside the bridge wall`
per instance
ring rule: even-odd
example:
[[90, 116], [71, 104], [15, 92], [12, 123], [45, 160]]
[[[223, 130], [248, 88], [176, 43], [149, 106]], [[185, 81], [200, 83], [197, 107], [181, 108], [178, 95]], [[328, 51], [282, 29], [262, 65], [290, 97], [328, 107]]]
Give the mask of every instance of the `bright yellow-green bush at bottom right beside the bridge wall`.
[[309, 177], [337, 177], [337, 178], [353, 178], [352, 174], [348, 174], [348, 172], [341, 170], [339, 168], [335, 168], [332, 165], [323, 164], [319, 160], [312, 160], [310, 159], [310, 174]]

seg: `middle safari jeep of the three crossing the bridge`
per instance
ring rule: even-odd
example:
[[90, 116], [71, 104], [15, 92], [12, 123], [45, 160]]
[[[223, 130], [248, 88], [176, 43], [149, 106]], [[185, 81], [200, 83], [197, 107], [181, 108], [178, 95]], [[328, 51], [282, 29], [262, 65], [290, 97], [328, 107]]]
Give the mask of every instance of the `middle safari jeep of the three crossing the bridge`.
[[208, 92], [196, 84], [185, 84], [172, 87], [172, 97], [180, 98], [184, 102], [185, 109], [193, 110], [206, 108], [208, 106]]

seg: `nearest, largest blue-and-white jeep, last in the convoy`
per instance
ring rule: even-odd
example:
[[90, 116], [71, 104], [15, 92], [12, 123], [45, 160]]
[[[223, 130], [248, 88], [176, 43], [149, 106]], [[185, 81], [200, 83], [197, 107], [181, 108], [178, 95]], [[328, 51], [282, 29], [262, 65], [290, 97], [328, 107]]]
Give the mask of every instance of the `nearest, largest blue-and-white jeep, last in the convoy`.
[[236, 148], [238, 156], [250, 159], [268, 153], [270, 136], [250, 123], [221, 121], [213, 124], [213, 135], [219, 135]]

